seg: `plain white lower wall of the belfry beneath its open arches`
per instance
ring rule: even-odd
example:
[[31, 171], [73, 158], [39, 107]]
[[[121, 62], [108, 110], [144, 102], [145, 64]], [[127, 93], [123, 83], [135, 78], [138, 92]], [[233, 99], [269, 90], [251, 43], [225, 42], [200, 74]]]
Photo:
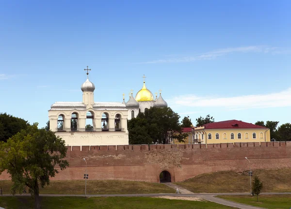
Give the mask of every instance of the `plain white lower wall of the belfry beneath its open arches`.
[[56, 132], [66, 146], [128, 145], [128, 132]]

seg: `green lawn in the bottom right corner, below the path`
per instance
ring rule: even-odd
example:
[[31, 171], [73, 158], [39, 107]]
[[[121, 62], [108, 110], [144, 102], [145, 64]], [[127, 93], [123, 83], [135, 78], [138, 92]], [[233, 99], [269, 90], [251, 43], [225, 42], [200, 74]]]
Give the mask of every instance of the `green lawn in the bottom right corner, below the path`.
[[259, 202], [257, 202], [257, 196], [250, 195], [219, 195], [217, 197], [266, 209], [291, 208], [291, 194], [259, 195]]

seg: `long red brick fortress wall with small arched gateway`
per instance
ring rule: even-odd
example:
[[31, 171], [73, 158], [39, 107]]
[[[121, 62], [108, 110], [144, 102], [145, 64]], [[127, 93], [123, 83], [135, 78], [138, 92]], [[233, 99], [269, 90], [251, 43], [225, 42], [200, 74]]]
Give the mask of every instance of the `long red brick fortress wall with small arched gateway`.
[[[291, 167], [290, 142], [225, 143], [206, 145], [117, 145], [68, 147], [70, 166], [52, 180], [83, 179], [85, 161], [89, 179], [159, 182], [167, 170], [172, 181], [213, 171]], [[0, 179], [9, 179], [3, 173]]]

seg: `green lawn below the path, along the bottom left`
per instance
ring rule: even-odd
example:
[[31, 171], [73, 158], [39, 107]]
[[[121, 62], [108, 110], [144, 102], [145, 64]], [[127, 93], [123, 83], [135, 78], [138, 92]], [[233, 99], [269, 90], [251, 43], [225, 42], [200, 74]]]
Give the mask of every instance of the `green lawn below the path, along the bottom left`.
[[[31, 197], [1, 197], [5, 209], [33, 209]], [[152, 197], [42, 197], [42, 209], [233, 209], [208, 201]]]

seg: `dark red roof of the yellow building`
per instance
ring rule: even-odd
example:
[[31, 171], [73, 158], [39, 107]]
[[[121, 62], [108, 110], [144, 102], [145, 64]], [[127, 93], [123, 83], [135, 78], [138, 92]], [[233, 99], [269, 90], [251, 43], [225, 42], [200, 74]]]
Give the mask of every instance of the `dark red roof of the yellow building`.
[[246, 129], [246, 128], [266, 128], [241, 120], [225, 120], [220, 122], [207, 123], [205, 129]]

